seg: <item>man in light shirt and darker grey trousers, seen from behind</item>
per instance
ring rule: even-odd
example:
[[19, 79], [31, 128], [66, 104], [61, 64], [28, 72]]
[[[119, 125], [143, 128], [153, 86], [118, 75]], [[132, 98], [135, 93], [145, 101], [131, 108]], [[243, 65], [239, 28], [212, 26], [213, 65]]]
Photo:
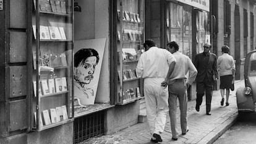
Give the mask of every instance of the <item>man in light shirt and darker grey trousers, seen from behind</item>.
[[[187, 88], [192, 85], [197, 77], [197, 69], [188, 56], [179, 52], [179, 45], [175, 41], [167, 44], [167, 49], [173, 54], [176, 59], [176, 65], [173, 73], [167, 75], [169, 87], [169, 116], [171, 119], [171, 133], [172, 139], [177, 140], [179, 133], [177, 133], [177, 99], [179, 100], [179, 109], [181, 111], [181, 132], [186, 135], [189, 131], [187, 127]], [[187, 75], [189, 77], [187, 78]]]

